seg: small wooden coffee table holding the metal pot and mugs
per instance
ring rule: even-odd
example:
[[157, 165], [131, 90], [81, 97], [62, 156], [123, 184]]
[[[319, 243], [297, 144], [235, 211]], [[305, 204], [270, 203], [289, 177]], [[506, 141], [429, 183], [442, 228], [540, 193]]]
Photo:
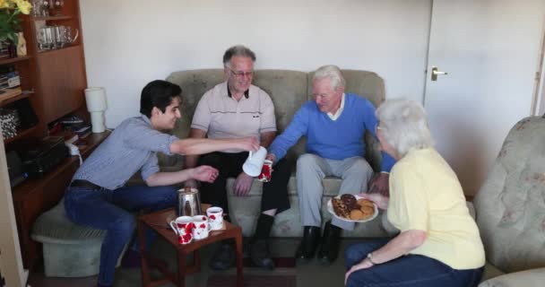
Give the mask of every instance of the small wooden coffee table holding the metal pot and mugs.
[[[211, 244], [216, 241], [224, 239], [235, 239], [237, 245], [237, 286], [243, 286], [242, 278], [242, 229], [229, 222], [225, 222], [225, 230], [211, 231], [210, 235], [206, 239], [193, 240], [191, 243], [181, 245], [177, 243], [177, 235], [168, 225], [169, 219], [175, 219], [174, 208], [166, 209], [163, 211], [144, 214], [138, 218], [138, 239], [140, 241], [140, 252], [142, 256], [142, 281], [143, 286], [159, 286], [164, 283], [174, 283], [177, 286], [186, 286], [186, 274], [197, 273], [201, 271], [201, 256], [199, 254], [199, 248], [205, 245]], [[158, 258], [153, 257], [149, 251], [144, 250], [145, 236], [144, 230], [151, 228], [160, 234], [160, 236], [176, 248], [177, 251], [177, 274], [169, 271], [167, 265], [165, 265]], [[186, 266], [186, 257], [190, 254], [194, 255], [194, 264]], [[151, 281], [150, 279], [150, 267], [156, 267], [162, 277], [158, 280]]]

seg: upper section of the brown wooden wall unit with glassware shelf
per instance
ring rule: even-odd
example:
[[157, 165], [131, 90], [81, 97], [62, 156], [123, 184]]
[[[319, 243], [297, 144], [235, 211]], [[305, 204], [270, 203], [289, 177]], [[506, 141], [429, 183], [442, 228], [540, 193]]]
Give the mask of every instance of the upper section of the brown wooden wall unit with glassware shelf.
[[[89, 118], [85, 109], [83, 90], [87, 87], [83, 55], [82, 22], [78, 0], [65, 0], [62, 15], [33, 17], [21, 15], [22, 31], [27, 41], [28, 56], [0, 59], [0, 65], [15, 65], [21, 77], [21, 97], [28, 98], [38, 124], [18, 131], [14, 138], [5, 140], [9, 149], [21, 138], [47, 135], [48, 124], [70, 113]], [[64, 48], [39, 49], [37, 33], [43, 26], [71, 27], [78, 38]], [[16, 99], [16, 100], [21, 100]], [[11, 100], [13, 102], [13, 100]], [[0, 107], [9, 104], [0, 100]]]

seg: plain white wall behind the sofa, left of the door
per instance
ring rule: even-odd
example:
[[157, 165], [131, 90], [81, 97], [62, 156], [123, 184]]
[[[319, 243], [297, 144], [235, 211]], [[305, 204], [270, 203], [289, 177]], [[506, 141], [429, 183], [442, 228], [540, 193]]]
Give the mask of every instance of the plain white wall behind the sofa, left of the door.
[[221, 68], [244, 44], [256, 69], [374, 71], [386, 97], [422, 100], [431, 0], [81, 0], [89, 86], [107, 126], [138, 114], [140, 91], [187, 69]]

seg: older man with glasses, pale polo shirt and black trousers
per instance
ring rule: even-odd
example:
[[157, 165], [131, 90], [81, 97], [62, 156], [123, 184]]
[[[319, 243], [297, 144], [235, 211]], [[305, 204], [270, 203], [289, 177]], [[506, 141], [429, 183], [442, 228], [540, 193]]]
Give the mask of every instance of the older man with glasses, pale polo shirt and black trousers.
[[[234, 46], [223, 55], [224, 74], [227, 81], [204, 93], [195, 109], [190, 137], [193, 138], [242, 138], [258, 136], [265, 148], [276, 136], [274, 106], [269, 95], [252, 85], [254, 78], [255, 54], [244, 46]], [[229, 221], [227, 178], [236, 178], [233, 185], [235, 196], [247, 196], [254, 178], [242, 170], [248, 152], [225, 150], [212, 152], [197, 158], [186, 157], [186, 166], [210, 165], [220, 171], [213, 183], [202, 182], [203, 203], [223, 208], [225, 220]], [[250, 245], [250, 257], [255, 265], [273, 269], [269, 255], [269, 238], [274, 216], [290, 208], [288, 180], [290, 168], [286, 161], [273, 166], [271, 181], [265, 182], [261, 211], [257, 220], [255, 235]], [[195, 187], [195, 180], [188, 180], [186, 187]], [[212, 257], [211, 267], [225, 270], [235, 263], [233, 242], [224, 242]]]

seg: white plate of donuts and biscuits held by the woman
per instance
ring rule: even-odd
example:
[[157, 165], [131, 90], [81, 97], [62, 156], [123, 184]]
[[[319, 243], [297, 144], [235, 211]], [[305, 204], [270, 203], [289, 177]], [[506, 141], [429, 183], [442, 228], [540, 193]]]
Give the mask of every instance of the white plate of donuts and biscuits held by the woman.
[[345, 194], [335, 196], [327, 202], [327, 211], [346, 222], [368, 222], [378, 215], [378, 208], [372, 201], [361, 196]]

